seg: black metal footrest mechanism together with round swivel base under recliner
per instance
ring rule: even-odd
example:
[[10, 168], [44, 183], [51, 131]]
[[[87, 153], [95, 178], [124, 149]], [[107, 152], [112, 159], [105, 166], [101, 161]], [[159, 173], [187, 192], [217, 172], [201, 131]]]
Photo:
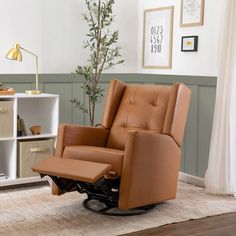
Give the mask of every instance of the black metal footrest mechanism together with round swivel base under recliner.
[[94, 213], [110, 216], [133, 216], [148, 213], [155, 207], [155, 204], [151, 204], [128, 210], [119, 209], [119, 178], [102, 178], [96, 183], [85, 183], [57, 176], [50, 177], [63, 193], [74, 190], [86, 193], [88, 198], [84, 200], [83, 206]]

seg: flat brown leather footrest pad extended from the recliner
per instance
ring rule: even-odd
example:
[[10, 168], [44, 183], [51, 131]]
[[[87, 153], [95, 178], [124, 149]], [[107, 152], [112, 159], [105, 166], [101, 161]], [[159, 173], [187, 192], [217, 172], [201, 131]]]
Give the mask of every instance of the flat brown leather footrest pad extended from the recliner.
[[50, 157], [32, 167], [34, 172], [42, 175], [58, 176], [87, 183], [95, 183], [111, 169], [112, 166], [110, 164], [60, 157]]

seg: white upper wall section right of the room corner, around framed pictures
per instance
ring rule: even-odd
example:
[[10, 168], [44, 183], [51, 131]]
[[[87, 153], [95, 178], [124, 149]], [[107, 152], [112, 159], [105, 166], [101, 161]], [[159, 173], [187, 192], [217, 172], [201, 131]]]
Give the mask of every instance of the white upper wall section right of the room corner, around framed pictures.
[[[180, 27], [181, 0], [139, 0], [138, 72], [175, 75], [217, 75], [217, 47], [223, 0], [205, 0], [204, 25]], [[143, 69], [143, 14], [145, 9], [174, 6], [172, 69]], [[198, 52], [181, 52], [181, 37], [198, 35]]]

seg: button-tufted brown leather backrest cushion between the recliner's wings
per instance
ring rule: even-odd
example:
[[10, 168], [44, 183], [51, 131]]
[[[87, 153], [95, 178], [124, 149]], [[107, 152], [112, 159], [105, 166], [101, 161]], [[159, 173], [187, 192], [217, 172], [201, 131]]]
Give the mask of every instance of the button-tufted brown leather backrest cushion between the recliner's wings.
[[128, 130], [161, 133], [171, 87], [127, 86], [108, 137], [107, 147], [124, 150]]

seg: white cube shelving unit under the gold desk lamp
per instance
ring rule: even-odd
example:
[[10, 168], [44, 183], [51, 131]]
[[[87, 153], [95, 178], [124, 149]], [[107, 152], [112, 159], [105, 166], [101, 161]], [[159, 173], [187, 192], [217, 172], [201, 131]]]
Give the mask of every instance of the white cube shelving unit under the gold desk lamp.
[[[13, 101], [13, 136], [0, 138], [0, 173], [8, 179], [0, 180], [0, 186], [22, 182], [35, 182], [39, 178], [17, 179], [17, 141], [53, 138], [57, 136], [59, 123], [59, 96], [54, 94], [0, 96], [0, 101]], [[17, 115], [24, 120], [27, 136], [17, 137]], [[4, 125], [4, 124], [0, 124]], [[40, 125], [40, 135], [31, 135], [29, 128]]]

